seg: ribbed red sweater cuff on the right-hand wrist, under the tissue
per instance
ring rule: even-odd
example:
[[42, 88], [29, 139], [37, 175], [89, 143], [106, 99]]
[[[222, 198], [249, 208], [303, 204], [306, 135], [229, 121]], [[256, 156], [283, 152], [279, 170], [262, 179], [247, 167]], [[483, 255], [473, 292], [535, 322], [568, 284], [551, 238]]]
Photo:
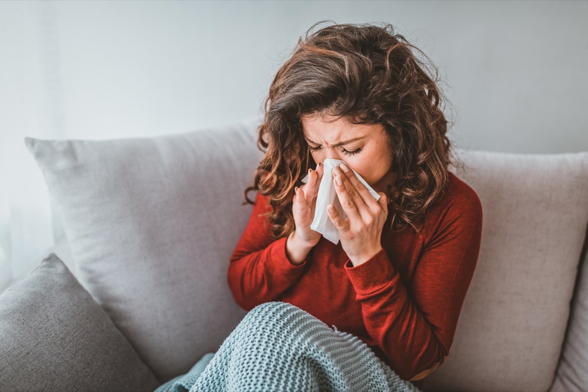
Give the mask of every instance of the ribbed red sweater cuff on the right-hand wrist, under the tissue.
[[390, 285], [398, 272], [384, 248], [356, 267], [348, 260], [343, 266], [358, 295], [369, 295]]

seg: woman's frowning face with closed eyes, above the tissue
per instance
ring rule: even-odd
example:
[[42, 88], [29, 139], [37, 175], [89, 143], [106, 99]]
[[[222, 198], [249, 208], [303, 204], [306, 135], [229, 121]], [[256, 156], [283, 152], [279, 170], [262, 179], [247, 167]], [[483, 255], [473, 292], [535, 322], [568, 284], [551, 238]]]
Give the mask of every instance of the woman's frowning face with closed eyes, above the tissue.
[[303, 117], [302, 131], [316, 163], [325, 158], [345, 161], [377, 192], [386, 192], [393, 183], [392, 153], [382, 124], [355, 125], [345, 119], [328, 123], [320, 116]]

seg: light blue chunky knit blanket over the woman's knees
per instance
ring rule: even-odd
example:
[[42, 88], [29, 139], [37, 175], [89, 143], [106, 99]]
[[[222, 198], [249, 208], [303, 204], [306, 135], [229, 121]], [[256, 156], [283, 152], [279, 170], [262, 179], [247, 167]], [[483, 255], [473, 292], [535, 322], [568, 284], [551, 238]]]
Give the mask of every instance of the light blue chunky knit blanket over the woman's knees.
[[286, 302], [250, 310], [218, 352], [155, 392], [421, 392], [358, 337]]

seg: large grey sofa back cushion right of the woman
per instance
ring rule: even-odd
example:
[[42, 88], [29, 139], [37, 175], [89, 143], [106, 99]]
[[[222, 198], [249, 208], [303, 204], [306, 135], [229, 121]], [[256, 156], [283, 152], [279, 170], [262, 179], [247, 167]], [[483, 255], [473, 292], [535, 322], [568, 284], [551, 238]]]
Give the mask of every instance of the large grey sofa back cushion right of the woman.
[[482, 202], [482, 244], [449, 357], [423, 389], [546, 391], [586, 235], [588, 153], [459, 156], [454, 171]]

